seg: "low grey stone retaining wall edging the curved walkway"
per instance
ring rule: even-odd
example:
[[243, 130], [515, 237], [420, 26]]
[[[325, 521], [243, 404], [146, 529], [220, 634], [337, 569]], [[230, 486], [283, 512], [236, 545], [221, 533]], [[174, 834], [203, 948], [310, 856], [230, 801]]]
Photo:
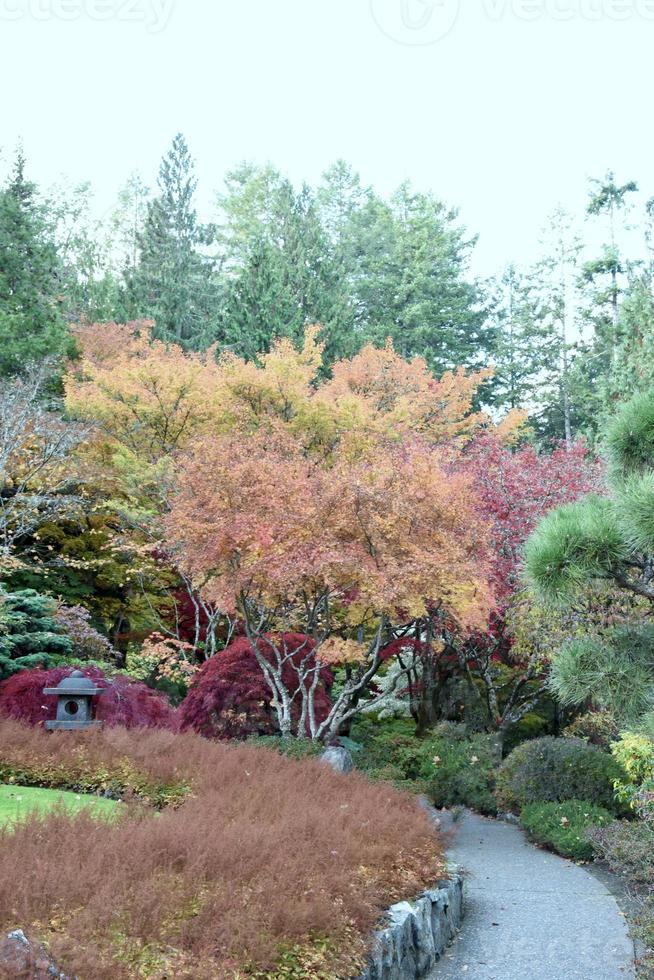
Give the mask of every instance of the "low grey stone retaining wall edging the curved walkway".
[[389, 925], [376, 933], [368, 966], [358, 980], [419, 980], [440, 960], [461, 927], [463, 876], [451, 877], [413, 902], [398, 902], [386, 913]]

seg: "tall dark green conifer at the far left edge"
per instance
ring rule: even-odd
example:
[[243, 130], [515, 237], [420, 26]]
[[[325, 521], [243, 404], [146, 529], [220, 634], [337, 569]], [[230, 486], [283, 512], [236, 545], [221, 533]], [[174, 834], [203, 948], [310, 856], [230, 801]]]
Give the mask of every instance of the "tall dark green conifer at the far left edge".
[[0, 191], [0, 373], [19, 374], [67, 345], [65, 276], [22, 150]]

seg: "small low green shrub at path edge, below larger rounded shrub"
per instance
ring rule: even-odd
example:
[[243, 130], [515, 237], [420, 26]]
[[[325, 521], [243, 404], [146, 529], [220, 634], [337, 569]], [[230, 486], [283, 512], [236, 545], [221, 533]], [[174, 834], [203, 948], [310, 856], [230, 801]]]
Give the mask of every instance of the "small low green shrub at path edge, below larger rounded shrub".
[[604, 807], [586, 800], [531, 803], [520, 814], [520, 823], [531, 840], [576, 861], [593, 857], [589, 828], [607, 826], [613, 820], [613, 814]]

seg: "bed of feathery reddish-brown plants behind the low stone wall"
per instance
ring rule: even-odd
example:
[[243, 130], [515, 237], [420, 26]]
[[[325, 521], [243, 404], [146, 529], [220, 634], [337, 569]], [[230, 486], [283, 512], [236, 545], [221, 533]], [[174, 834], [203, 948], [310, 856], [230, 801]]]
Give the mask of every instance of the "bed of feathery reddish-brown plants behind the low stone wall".
[[192, 787], [158, 815], [53, 814], [0, 833], [0, 928], [46, 940], [81, 980], [275, 976], [280, 950], [318, 937], [326, 972], [288, 975], [349, 976], [383, 910], [442, 874], [415, 801], [363, 777], [195, 735], [0, 722], [0, 763], [80, 756]]

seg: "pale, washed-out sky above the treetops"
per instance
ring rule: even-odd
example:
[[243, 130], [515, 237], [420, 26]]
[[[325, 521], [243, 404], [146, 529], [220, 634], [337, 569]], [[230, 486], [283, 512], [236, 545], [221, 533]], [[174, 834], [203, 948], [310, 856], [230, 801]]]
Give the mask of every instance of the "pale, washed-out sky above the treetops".
[[180, 130], [203, 212], [240, 160], [344, 157], [459, 207], [490, 273], [589, 176], [654, 195], [653, 52], [654, 0], [0, 0], [0, 147], [99, 209]]

